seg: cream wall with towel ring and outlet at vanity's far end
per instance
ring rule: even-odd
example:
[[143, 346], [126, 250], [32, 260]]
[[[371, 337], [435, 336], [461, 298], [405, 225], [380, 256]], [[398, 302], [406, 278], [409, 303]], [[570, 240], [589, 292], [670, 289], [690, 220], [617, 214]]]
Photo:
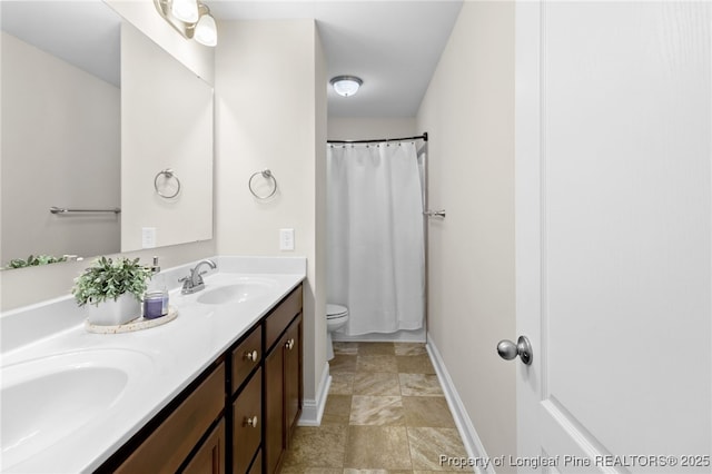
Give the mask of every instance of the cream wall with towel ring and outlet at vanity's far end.
[[[305, 398], [326, 367], [323, 295], [325, 66], [313, 20], [227, 21], [216, 51], [216, 221], [220, 254], [306, 256]], [[248, 189], [270, 169], [269, 200]], [[261, 176], [255, 179], [260, 186]], [[279, 229], [295, 229], [295, 250]]]

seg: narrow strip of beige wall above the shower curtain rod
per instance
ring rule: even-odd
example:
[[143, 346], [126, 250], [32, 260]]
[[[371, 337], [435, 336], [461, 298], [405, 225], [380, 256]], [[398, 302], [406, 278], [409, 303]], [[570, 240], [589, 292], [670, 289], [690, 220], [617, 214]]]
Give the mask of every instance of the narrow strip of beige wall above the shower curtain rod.
[[412, 118], [352, 118], [329, 117], [329, 140], [373, 140], [379, 138], [402, 138], [421, 135], [416, 131], [415, 117]]

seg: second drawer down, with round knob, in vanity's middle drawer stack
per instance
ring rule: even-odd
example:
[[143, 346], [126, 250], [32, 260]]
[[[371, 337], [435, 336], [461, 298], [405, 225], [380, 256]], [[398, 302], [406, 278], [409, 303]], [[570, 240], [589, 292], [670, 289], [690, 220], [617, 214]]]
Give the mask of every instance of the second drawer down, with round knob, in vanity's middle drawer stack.
[[258, 369], [233, 405], [233, 472], [246, 473], [263, 436], [263, 372]]

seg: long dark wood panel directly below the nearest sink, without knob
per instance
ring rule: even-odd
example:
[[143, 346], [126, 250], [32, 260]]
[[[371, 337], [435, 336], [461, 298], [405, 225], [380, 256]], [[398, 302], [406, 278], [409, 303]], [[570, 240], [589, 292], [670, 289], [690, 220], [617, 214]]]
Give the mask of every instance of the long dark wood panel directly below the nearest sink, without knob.
[[225, 364], [220, 364], [116, 472], [176, 472], [224, 406]]

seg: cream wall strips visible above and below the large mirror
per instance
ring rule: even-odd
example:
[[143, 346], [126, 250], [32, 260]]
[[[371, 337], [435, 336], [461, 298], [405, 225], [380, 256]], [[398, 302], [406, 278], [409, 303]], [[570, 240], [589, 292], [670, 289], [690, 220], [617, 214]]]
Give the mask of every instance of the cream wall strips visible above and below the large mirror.
[[[208, 82], [212, 82], [212, 48], [202, 47], [195, 41], [186, 41], [156, 13], [152, 2], [109, 0], [108, 3], [184, 65]], [[157, 255], [160, 257], [161, 266], [167, 268], [215, 254], [215, 240], [206, 240], [125, 255], [141, 257], [147, 263], [150, 261], [151, 256]], [[0, 309], [8, 310], [66, 296], [70, 292], [73, 278], [86, 267], [86, 261], [78, 261], [0, 271]]]

